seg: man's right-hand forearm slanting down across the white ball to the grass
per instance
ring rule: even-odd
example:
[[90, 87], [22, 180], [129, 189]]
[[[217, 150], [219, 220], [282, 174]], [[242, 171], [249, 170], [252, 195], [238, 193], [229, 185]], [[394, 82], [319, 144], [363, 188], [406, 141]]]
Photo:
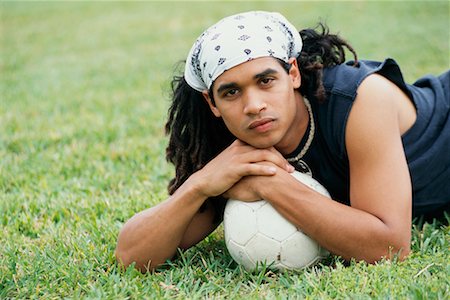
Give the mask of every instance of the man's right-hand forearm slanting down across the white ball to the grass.
[[[274, 186], [276, 184], [275, 181]], [[284, 188], [263, 188], [264, 198], [332, 253], [367, 262], [409, 253], [410, 228], [383, 222], [368, 212], [338, 203], [294, 181], [286, 187], [284, 182]]]

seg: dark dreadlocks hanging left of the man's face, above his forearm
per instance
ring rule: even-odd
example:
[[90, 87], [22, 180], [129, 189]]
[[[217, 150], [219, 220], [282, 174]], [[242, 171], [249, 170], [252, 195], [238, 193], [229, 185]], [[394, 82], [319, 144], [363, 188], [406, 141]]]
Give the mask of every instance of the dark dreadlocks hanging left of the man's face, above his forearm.
[[175, 165], [175, 178], [169, 183], [173, 194], [194, 172], [233, 142], [222, 119], [216, 118], [203, 98], [182, 76], [172, 81], [172, 105], [165, 126], [169, 135], [166, 158]]

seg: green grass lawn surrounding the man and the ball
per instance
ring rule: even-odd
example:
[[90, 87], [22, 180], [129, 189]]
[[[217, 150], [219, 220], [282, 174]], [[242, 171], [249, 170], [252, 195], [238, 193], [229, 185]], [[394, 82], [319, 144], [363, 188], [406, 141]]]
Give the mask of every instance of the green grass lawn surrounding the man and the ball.
[[153, 274], [121, 270], [118, 231], [167, 197], [163, 124], [176, 62], [223, 16], [325, 21], [408, 82], [449, 68], [449, 3], [1, 2], [0, 298], [450, 297], [448, 226], [412, 228], [404, 262], [250, 274], [217, 230]]

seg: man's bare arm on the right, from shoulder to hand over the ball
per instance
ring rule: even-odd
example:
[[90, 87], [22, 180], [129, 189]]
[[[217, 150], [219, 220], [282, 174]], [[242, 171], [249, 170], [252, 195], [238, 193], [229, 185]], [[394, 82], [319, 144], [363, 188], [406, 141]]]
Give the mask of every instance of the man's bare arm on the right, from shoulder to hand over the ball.
[[[411, 183], [401, 143], [397, 87], [378, 75], [366, 79], [350, 113], [346, 146], [351, 206], [310, 190], [286, 172], [245, 178], [258, 197], [345, 259], [375, 262], [410, 252]], [[231, 190], [232, 191], [232, 190]]]

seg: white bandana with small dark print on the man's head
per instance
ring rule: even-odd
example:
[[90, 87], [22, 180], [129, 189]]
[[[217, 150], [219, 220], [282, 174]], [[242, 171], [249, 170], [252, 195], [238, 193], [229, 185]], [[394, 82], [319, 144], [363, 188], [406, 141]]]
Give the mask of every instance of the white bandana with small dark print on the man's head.
[[285, 62], [298, 57], [302, 39], [276, 12], [252, 11], [226, 17], [203, 32], [189, 52], [184, 77], [201, 92], [223, 72], [246, 61], [272, 56]]

